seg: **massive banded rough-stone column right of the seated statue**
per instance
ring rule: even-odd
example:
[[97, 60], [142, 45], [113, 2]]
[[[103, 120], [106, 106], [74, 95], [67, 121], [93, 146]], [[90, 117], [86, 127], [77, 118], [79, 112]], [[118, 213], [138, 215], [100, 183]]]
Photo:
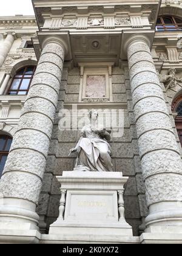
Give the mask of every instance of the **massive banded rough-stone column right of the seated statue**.
[[[146, 227], [182, 227], [182, 165], [157, 71], [144, 36], [126, 43], [149, 215]], [[149, 230], [149, 229], [148, 229]]]

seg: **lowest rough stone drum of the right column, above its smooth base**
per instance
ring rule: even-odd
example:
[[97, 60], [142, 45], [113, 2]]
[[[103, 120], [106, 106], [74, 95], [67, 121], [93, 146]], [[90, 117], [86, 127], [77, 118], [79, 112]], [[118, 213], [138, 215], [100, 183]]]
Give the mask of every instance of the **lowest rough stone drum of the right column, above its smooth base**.
[[[169, 180], [172, 187], [169, 186]], [[148, 206], [163, 201], [182, 201], [181, 174], [164, 173], [151, 176], [146, 179], [145, 185]]]

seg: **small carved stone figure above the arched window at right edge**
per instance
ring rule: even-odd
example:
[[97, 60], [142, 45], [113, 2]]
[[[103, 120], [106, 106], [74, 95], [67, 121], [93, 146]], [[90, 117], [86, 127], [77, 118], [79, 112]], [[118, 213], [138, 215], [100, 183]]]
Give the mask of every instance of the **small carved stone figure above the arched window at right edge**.
[[166, 91], [168, 88], [176, 87], [179, 83], [182, 82], [181, 78], [178, 78], [175, 76], [176, 73], [177, 73], [177, 71], [175, 68], [170, 68], [169, 74], [167, 74], [166, 76], [160, 77], [160, 82], [164, 83]]

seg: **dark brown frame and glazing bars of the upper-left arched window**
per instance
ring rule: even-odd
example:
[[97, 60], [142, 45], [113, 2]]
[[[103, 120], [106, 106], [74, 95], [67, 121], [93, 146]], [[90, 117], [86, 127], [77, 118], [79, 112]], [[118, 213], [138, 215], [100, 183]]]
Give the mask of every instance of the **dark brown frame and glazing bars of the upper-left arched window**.
[[[30, 67], [33, 67], [33, 74], [30, 74], [31, 77], [24, 77], [24, 76], [28, 76], [28, 75], [26, 75], [25, 73], [26, 73], [27, 69], [30, 68]], [[23, 68], [24, 68], [24, 72], [23, 72], [21, 75], [18, 75], [18, 72], [19, 72], [21, 69], [23, 69]], [[22, 68], [19, 68], [19, 69], [16, 71], [16, 74], [15, 74], [15, 76], [13, 77], [12, 81], [10, 82], [10, 86], [8, 87], [8, 90], [7, 90], [7, 93], [6, 93], [6, 94], [7, 94], [7, 95], [13, 95], [13, 96], [14, 96], [14, 95], [27, 95], [28, 92], [29, 92], [29, 89], [30, 89], [30, 85], [31, 85], [31, 83], [32, 83], [33, 76], [34, 76], [34, 74], [35, 74], [35, 70], [36, 70], [36, 66], [35, 66], [35, 65], [29, 65], [29, 66], [24, 66], [24, 67], [22, 67]], [[20, 78], [20, 77], [18, 78], [18, 76], [21, 76], [21, 78]], [[18, 85], [18, 88], [17, 88], [16, 90], [12, 90], [11, 88], [12, 88], [12, 85], [13, 85], [13, 82], [14, 82], [15, 79], [20, 79], [19, 85]], [[26, 90], [20, 90], [20, 87], [21, 87], [21, 85], [22, 85], [22, 81], [23, 81], [24, 79], [30, 79], [29, 85], [28, 85], [28, 87], [27, 87]], [[16, 94], [10, 94], [11, 91], [15, 91]], [[25, 91], [26, 93], [25, 93], [25, 94], [18, 94], [19, 91]]]

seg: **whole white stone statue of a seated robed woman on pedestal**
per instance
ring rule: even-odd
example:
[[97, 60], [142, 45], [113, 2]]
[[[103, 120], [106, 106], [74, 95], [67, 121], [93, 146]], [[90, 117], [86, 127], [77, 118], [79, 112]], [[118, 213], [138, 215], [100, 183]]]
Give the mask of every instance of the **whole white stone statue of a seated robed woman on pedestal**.
[[[98, 128], [98, 112], [90, 111], [90, 123], [81, 130], [81, 137], [70, 154], [77, 153], [74, 171], [112, 171], [110, 133]], [[69, 155], [70, 155], [69, 154]]]

